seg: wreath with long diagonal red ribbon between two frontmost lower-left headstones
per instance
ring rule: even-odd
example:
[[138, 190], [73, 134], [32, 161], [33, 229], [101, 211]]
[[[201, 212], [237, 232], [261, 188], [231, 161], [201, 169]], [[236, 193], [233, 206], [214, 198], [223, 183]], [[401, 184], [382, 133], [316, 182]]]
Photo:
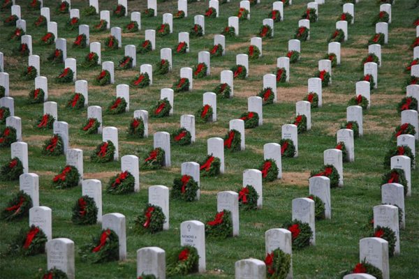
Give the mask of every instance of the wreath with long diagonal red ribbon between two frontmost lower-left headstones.
[[119, 259], [119, 237], [112, 229], [103, 229], [100, 236], [92, 236], [89, 244], [82, 246], [80, 256], [91, 264]]

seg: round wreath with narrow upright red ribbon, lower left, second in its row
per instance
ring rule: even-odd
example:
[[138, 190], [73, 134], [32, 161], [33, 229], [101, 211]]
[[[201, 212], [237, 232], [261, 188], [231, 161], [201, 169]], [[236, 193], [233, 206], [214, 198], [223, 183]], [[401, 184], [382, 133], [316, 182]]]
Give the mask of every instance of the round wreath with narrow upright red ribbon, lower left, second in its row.
[[84, 195], [73, 206], [71, 221], [76, 225], [94, 225], [98, 217], [98, 207], [93, 197]]

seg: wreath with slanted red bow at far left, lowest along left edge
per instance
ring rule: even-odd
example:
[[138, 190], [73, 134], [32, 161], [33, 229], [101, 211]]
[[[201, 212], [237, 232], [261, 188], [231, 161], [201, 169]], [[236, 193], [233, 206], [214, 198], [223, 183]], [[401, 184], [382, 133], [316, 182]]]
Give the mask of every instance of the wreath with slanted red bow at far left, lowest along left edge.
[[8, 252], [24, 256], [43, 254], [45, 243], [47, 243], [47, 236], [43, 230], [31, 225], [29, 230], [27, 228], [20, 230], [13, 243], [8, 247]]

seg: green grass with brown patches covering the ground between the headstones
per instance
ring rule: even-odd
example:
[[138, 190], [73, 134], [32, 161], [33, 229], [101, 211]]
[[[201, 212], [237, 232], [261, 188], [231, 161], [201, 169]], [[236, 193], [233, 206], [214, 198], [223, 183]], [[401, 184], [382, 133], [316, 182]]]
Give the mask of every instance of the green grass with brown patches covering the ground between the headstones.
[[[67, 38], [67, 56], [74, 57], [81, 63], [88, 49], [71, 48], [78, 31], [66, 31], [65, 22], [68, 15], [57, 15], [54, 10], [56, 1], [45, 0], [45, 6], [51, 10], [51, 20], [59, 26], [59, 38]], [[85, 1], [72, 1], [73, 8], [86, 7]], [[106, 2], [106, 3], [103, 3]], [[102, 1], [101, 10], [112, 10], [114, 1]], [[140, 3], [138, 3], [140, 2]], [[191, 38], [191, 52], [184, 55], [173, 55], [173, 70], [163, 77], [154, 76], [154, 84], [147, 89], [131, 88], [131, 111], [122, 115], [103, 114], [104, 126], [119, 128], [119, 154], [134, 154], [144, 158], [152, 147], [152, 135], [156, 131], [171, 131], [179, 127], [182, 114], [193, 114], [202, 105], [202, 95], [212, 91], [219, 84], [221, 70], [229, 69], [235, 64], [236, 54], [244, 53], [250, 38], [256, 36], [262, 20], [272, 8], [273, 0], [262, 0], [262, 3], [251, 8], [251, 20], [240, 23], [240, 37], [226, 40], [227, 52], [222, 58], [211, 61], [212, 75], [202, 80], [194, 80], [194, 89], [190, 93], [175, 94], [175, 113], [164, 119], [150, 119], [150, 137], [143, 140], [131, 140], [126, 135], [128, 123], [133, 111], [148, 110], [160, 96], [160, 89], [171, 87], [179, 77], [179, 69], [193, 67], [198, 63], [198, 52], [209, 50], [213, 45], [213, 37], [220, 33], [227, 24], [229, 15], [238, 11], [239, 1], [220, 6], [221, 16], [207, 19], [203, 38]], [[140, 172], [140, 193], [132, 195], [108, 195], [103, 193], [103, 213], [119, 212], [126, 216], [126, 235], [128, 259], [125, 262], [91, 265], [83, 262], [78, 249], [91, 241], [92, 234], [99, 234], [100, 225], [76, 226], [71, 223], [71, 208], [81, 195], [80, 187], [56, 190], [52, 186], [52, 176], [65, 165], [64, 156], [48, 158], [41, 155], [41, 146], [52, 131], [38, 131], [34, 128], [36, 119], [43, 113], [42, 104], [29, 105], [27, 95], [34, 89], [34, 82], [22, 82], [21, 71], [27, 66], [27, 58], [12, 54], [18, 42], [9, 41], [8, 33], [12, 27], [1, 26], [0, 51], [6, 56], [5, 68], [10, 74], [10, 95], [15, 98], [15, 115], [22, 118], [22, 135], [24, 142], [29, 144], [29, 168], [40, 175], [41, 205], [52, 209], [53, 237], [68, 237], [75, 241], [75, 271], [77, 278], [133, 278], [136, 274], [136, 250], [146, 246], [159, 246], [170, 252], [179, 246], [179, 225], [184, 220], [205, 221], [214, 216], [216, 211], [216, 193], [221, 190], [236, 190], [242, 185], [242, 171], [257, 167], [263, 160], [263, 144], [279, 142], [281, 126], [289, 123], [295, 116], [295, 102], [302, 100], [307, 93], [307, 79], [313, 77], [317, 69], [317, 61], [323, 59], [327, 52], [327, 38], [335, 30], [335, 21], [341, 13], [340, 0], [328, 0], [319, 8], [319, 21], [311, 24], [311, 40], [303, 42], [302, 58], [297, 64], [291, 65], [291, 82], [278, 89], [279, 103], [263, 107], [263, 126], [246, 131], [246, 151], [226, 153], [226, 174], [215, 178], [202, 178], [202, 190], [199, 202], [184, 203], [170, 200], [170, 229], [155, 235], [138, 235], [133, 231], [135, 216], [142, 212], [147, 203], [147, 188], [152, 185], [171, 186], [173, 179], [180, 173], [180, 165], [186, 161], [205, 158], [207, 138], [223, 137], [228, 130], [228, 121], [235, 119], [247, 111], [247, 97], [256, 96], [263, 86], [262, 77], [272, 73], [276, 68], [276, 60], [284, 56], [288, 40], [293, 38], [297, 29], [297, 21], [305, 10], [307, 0], [294, 1], [294, 5], [285, 8], [285, 21], [276, 23], [274, 38], [263, 41], [263, 56], [249, 63], [249, 79], [235, 81], [235, 97], [232, 100], [219, 100], [218, 121], [216, 123], [197, 123], [197, 140], [191, 146], [172, 146], [172, 168], [159, 171]], [[384, 173], [382, 163], [389, 147], [392, 130], [399, 124], [396, 104], [405, 96], [403, 73], [404, 66], [413, 59], [413, 51], [409, 45], [415, 38], [415, 29], [411, 22], [418, 15], [413, 9], [413, 1], [397, 0], [392, 9], [392, 24], [389, 28], [389, 44], [382, 47], [383, 66], [379, 69], [378, 89], [372, 94], [372, 108], [364, 112], [365, 136], [355, 140], [355, 163], [344, 165], [344, 188], [332, 189], [332, 220], [316, 223], [316, 246], [294, 251], [293, 270], [295, 278], [337, 278], [339, 271], [348, 269], [358, 262], [359, 240], [368, 236], [362, 229], [372, 213], [372, 207], [381, 203], [381, 175]], [[47, 56], [54, 46], [41, 46], [38, 40], [46, 32], [46, 27], [36, 29], [32, 23], [38, 11], [28, 10], [26, 1], [20, 1], [22, 16], [27, 20], [27, 33], [34, 42], [34, 54], [41, 56], [41, 74], [48, 77], [50, 98], [59, 104], [59, 120], [68, 122], [70, 126], [70, 144], [73, 148], [84, 151], [84, 174], [88, 178], [101, 179], [103, 188], [110, 176], [119, 172], [120, 163], [95, 164], [89, 161], [89, 155], [99, 142], [101, 135], [82, 135], [80, 128], [87, 117], [87, 109], [80, 111], [67, 110], [64, 105], [73, 92], [73, 84], [54, 83], [53, 77], [64, 68], [63, 65], [50, 65]], [[146, 1], [128, 1], [129, 12], [143, 11]], [[189, 4], [189, 17], [174, 20], [174, 32], [165, 38], [156, 38], [156, 51], [149, 54], [138, 54], [137, 64], [159, 61], [159, 50], [162, 47], [175, 47], [177, 33], [189, 31], [193, 26], [193, 15], [203, 14], [207, 1]], [[144, 40], [145, 29], [156, 29], [161, 23], [162, 14], [174, 13], [177, 1], [159, 3], [159, 17], [142, 18], [142, 30], [135, 34], [123, 34], [123, 45], [138, 45]], [[355, 82], [362, 75], [360, 62], [367, 55], [367, 40], [374, 34], [372, 18], [378, 13], [376, 1], [363, 0], [355, 5], [355, 24], [348, 27], [349, 40], [342, 44], [341, 66], [333, 69], [332, 86], [323, 89], [323, 107], [312, 110], [313, 127], [309, 133], [299, 136], [299, 157], [283, 158], [285, 179], [265, 183], [263, 188], [263, 209], [255, 212], [240, 212], [240, 236], [233, 239], [214, 241], [208, 239], [207, 273], [193, 274], [188, 278], [233, 278], [234, 263], [239, 259], [255, 257], [264, 259], [265, 231], [281, 227], [291, 218], [291, 201], [296, 197], [308, 195], [309, 171], [318, 169], [323, 164], [323, 151], [332, 148], [335, 133], [340, 123], [346, 119], [346, 103], [355, 93]], [[1, 19], [10, 14], [0, 13]], [[81, 17], [82, 24], [93, 26], [98, 22], [98, 15]], [[128, 18], [111, 17], [112, 27], [124, 27]], [[103, 41], [108, 32], [91, 33], [91, 42]], [[124, 50], [102, 52], [102, 61], [114, 61], [115, 65], [124, 56]], [[94, 76], [100, 68], [84, 69], [78, 67], [78, 79], [89, 82], [89, 105], [108, 106], [110, 97], [115, 96], [117, 84], [129, 84], [137, 70], [115, 71], [115, 84], [112, 86], [92, 86]], [[416, 154], [417, 155], [417, 154]], [[10, 157], [10, 149], [0, 149], [0, 164], [6, 163]], [[412, 172], [412, 196], [406, 198], [406, 229], [400, 232], [401, 255], [390, 259], [391, 278], [419, 278], [418, 266], [418, 183], [419, 172]], [[0, 206], [6, 202], [19, 188], [18, 181], [0, 182]], [[34, 257], [10, 257], [4, 254], [7, 244], [22, 227], [27, 227], [28, 220], [14, 223], [1, 221], [0, 235], [0, 274], [2, 278], [34, 278], [39, 269], [46, 269], [46, 255]], [[416, 267], [415, 267], [416, 266]], [[222, 270], [222, 272], [214, 271]], [[180, 278], [180, 277], [179, 277]]]

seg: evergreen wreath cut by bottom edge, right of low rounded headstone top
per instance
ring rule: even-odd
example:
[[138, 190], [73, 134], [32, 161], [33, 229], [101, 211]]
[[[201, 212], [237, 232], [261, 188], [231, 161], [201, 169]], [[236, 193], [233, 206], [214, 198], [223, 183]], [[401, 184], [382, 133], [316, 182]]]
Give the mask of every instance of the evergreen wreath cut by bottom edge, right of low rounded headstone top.
[[266, 278], [286, 279], [291, 269], [291, 255], [277, 248], [265, 257]]

